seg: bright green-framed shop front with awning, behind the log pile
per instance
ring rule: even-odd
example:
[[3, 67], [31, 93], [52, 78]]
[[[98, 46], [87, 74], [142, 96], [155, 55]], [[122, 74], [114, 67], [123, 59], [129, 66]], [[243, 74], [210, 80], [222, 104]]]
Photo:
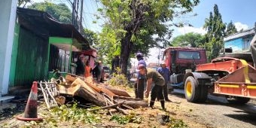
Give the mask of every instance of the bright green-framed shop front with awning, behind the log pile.
[[[49, 38], [49, 78], [53, 77], [53, 71], [59, 70], [62, 76], [67, 73], [75, 74], [76, 64], [78, 56], [82, 53], [90, 62], [94, 62], [91, 58], [90, 49], [84, 50], [83, 44], [78, 42], [75, 38], [61, 38], [50, 37]], [[88, 53], [89, 52], [89, 53]], [[96, 56], [93, 56], [96, 57]]]

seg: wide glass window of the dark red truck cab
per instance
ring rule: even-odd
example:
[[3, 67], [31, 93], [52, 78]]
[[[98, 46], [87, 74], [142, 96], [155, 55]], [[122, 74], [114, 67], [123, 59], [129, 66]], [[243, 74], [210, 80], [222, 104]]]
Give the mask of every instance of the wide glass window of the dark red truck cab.
[[198, 51], [178, 51], [179, 59], [200, 59], [200, 52]]

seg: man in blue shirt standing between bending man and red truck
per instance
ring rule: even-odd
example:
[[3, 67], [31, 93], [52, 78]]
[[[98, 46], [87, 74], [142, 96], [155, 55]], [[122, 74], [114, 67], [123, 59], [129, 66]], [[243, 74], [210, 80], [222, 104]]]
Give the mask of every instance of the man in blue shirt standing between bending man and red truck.
[[170, 100], [168, 99], [168, 92], [167, 92], [167, 84], [170, 81], [170, 72], [169, 69], [166, 67], [166, 63], [165, 62], [161, 62], [160, 63], [160, 67], [157, 69], [157, 72], [159, 72], [165, 81], [165, 84], [163, 86], [163, 96], [164, 99], [166, 100], [166, 102], [170, 102]]

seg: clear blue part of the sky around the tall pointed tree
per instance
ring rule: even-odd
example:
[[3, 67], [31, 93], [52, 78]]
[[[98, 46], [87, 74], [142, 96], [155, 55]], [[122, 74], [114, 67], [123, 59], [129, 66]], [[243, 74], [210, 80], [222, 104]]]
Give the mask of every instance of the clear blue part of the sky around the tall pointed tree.
[[209, 12], [213, 11], [215, 4], [218, 5], [224, 22], [229, 23], [232, 20], [234, 23], [246, 24], [250, 28], [254, 26], [256, 22], [256, 1], [254, 0], [203, 0], [194, 8], [194, 12], [199, 15], [193, 18], [191, 23], [196, 27], [202, 26], [206, 17], [209, 17]]

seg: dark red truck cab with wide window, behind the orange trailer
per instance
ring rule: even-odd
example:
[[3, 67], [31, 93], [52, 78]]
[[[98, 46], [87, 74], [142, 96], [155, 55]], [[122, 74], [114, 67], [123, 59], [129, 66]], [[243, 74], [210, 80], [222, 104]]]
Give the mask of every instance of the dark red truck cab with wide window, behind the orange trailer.
[[171, 72], [172, 87], [183, 88], [186, 71], [194, 72], [196, 65], [206, 63], [206, 50], [203, 48], [169, 47], [163, 55]]

